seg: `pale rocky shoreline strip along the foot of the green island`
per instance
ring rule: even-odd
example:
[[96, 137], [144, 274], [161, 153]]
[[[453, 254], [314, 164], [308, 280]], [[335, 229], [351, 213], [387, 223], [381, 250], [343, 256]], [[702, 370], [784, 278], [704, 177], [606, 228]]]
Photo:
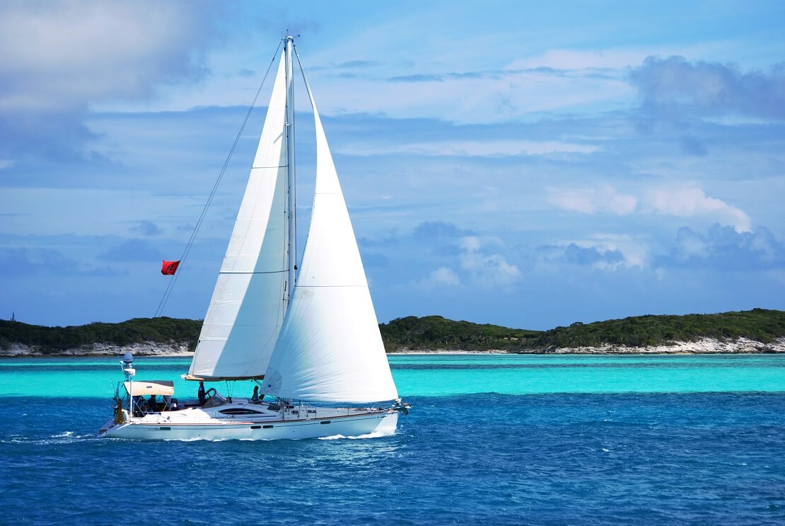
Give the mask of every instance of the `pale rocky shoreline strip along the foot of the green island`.
[[[184, 342], [170, 341], [168, 344], [156, 343], [152, 341], [141, 344], [113, 345], [113, 344], [92, 344], [83, 345], [78, 348], [65, 349], [63, 351], [45, 352], [35, 346], [22, 344], [12, 344], [9, 348], [0, 348], [0, 357], [55, 357], [55, 356], [119, 356], [127, 351], [134, 356], [192, 356], [193, 352], [188, 350], [188, 344]], [[603, 345], [600, 347], [578, 347], [578, 348], [542, 348], [527, 349], [520, 351], [524, 354], [537, 355], [703, 355], [703, 354], [761, 354], [761, 353], [785, 353], [785, 338], [772, 340], [763, 343], [747, 338], [737, 340], [717, 340], [714, 338], [703, 338], [697, 341], [681, 341], [667, 345], [655, 345], [647, 347], [626, 347], [622, 345]], [[490, 351], [467, 351], [466, 349], [407, 349], [392, 351], [390, 354], [425, 355], [425, 354], [515, 354], [510, 351], [490, 350]]]

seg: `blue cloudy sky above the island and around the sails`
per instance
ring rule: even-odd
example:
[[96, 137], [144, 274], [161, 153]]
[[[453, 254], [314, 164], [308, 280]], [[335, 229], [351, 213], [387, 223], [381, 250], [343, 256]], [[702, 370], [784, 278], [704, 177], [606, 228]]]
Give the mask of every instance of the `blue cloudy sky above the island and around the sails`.
[[[151, 317], [287, 31], [380, 322], [783, 309], [783, 25], [778, 1], [2, 2], [0, 318]], [[271, 88], [164, 315], [206, 312]]]

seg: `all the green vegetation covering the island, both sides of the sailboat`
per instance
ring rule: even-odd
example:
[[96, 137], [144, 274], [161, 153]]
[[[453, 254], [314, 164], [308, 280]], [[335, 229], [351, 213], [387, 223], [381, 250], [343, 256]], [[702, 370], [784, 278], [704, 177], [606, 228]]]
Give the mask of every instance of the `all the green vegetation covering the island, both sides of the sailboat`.
[[[89, 344], [126, 345], [153, 341], [188, 343], [193, 349], [201, 320], [134, 318], [122, 323], [42, 327], [0, 320], [0, 348], [11, 344], [37, 346], [45, 354]], [[721, 314], [635, 316], [607, 322], [573, 323], [546, 331], [508, 329], [495, 325], [454, 322], [441, 316], [397, 318], [379, 326], [387, 351], [400, 349], [455, 349], [512, 352], [556, 348], [624, 345], [642, 347], [702, 337], [735, 340], [739, 337], [768, 343], [785, 337], [785, 312], [753, 309]]]

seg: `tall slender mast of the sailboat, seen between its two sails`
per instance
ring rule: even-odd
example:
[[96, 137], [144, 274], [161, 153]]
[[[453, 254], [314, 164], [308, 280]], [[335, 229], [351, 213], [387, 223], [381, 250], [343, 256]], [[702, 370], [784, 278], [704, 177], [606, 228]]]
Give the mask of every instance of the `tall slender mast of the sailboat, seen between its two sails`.
[[283, 37], [286, 41], [286, 71], [287, 71], [287, 222], [289, 226], [288, 255], [289, 272], [287, 274], [287, 290], [284, 299], [289, 307], [289, 302], [294, 291], [294, 280], [297, 270], [297, 220], [294, 214], [295, 178], [294, 178], [294, 72], [292, 71], [292, 48], [294, 36]]

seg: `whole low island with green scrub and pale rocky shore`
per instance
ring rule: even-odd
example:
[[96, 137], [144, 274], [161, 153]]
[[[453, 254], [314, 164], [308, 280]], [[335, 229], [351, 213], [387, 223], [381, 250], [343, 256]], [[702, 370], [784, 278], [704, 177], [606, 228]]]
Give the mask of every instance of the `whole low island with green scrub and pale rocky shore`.
[[[134, 318], [46, 327], [0, 320], [0, 356], [190, 355], [202, 320]], [[701, 354], [785, 352], [785, 311], [646, 315], [575, 322], [550, 330], [510, 329], [441, 316], [379, 325], [388, 353]]]

